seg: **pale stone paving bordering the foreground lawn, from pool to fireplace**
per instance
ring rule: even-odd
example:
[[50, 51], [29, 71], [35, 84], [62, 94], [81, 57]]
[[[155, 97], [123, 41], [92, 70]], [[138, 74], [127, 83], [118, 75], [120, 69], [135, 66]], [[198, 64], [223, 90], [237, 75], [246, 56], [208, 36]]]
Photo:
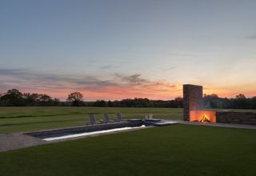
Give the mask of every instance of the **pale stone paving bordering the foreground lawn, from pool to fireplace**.
[[[242, 129], [256, 130], [256, 126], [249, 126], [249, 125], [237, 125], [237, 124], [227, 124], [227, 123], [186, 122], [186, 121], [177, 121], [177, 122], [179, 124], [194, 125], [194, 126], [219, 126], [219, 127], [228, 127], [228, 128], [242, 128]], [[148, 126], [148, 127], [151, 127], [151, 126]], [[126, 131], [130, 131], [130, 130], [126, 130]], [[120, 131], [120, 132], [126, 132], [126, 131]], [[117, 133], [117, 132], [110, 132], [107, 134], [113, 134], [113, 133]], [[78, 137], [78, 138], [90, 138], [92, 136], [98, 136], [98, 135], [102, 135], [102, 134], [94, 134], [91, 136]], [[70, 141], [78, 138], [67, 138], [62, 140], [46, 142], [40, 138], [34, 138], [22, 133], [0, 134], [0, 152], [26, 148], [29, 146], [38, 146], [38, 145], [54, 143], [54, 142]]]

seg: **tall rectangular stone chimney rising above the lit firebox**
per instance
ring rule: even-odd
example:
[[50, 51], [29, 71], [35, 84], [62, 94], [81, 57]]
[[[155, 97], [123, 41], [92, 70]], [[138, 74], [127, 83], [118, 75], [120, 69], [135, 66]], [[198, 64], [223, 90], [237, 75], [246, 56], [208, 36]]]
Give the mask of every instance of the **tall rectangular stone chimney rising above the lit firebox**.
[[202, 110], [202, 86], [183, 85], [184, 121], [190, 121], [190, 110]]

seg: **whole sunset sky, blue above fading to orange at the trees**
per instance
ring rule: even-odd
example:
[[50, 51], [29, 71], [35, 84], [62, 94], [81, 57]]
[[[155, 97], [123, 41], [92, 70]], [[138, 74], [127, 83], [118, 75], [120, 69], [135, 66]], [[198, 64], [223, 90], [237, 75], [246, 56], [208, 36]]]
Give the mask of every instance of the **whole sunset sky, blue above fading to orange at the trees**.
[[254, 0], [0, 0], [0, 94], [256, 96]]

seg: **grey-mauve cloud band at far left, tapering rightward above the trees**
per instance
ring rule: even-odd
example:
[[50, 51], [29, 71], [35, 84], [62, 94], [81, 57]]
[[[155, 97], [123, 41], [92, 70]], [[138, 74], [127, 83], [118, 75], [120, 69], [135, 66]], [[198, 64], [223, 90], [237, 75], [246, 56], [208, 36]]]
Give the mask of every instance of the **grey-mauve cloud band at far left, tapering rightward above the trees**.
[[[39, 74], [30, 70], [14, 70], [0, 69], [0, 77], [2, 77], [3, 85], [16, 85], [16, 82], [23, 82], [19, 87], [37, 86], [52, 88], [73, 88], [80, 89], [83, 86], [110, 86], [114, 82], [110, 80], [102, 80], [93, 76], [79, 75], [59, 75], [59, 74]], [[61, 87], [60, 87], [61, 86]], [[2, 87], [2, 86], [1, 86]]]

